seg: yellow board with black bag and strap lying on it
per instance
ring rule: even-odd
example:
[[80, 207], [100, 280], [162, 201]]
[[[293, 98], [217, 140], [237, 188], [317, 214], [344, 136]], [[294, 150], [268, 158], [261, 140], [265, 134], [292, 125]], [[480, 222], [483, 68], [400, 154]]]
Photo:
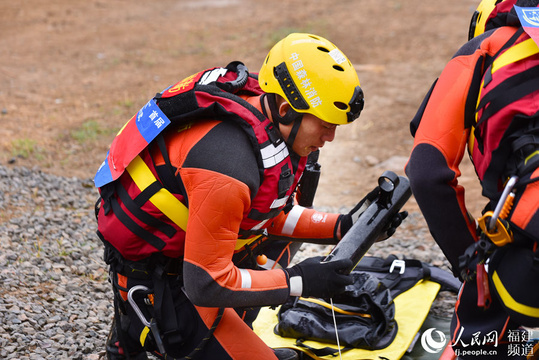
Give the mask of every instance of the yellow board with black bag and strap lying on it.
[[[438, 292], [460, 287], [448, 271], [394, 255], [364, 256], [352, 275], [356, 282], [333, 299], [342, 358], [349, 360], [401, 358]], [[264, 308], [253, 324], [272, 348], [294, 348], [314, 359], [338, 356], [333, 326], [329, 300], [312, 298]]]

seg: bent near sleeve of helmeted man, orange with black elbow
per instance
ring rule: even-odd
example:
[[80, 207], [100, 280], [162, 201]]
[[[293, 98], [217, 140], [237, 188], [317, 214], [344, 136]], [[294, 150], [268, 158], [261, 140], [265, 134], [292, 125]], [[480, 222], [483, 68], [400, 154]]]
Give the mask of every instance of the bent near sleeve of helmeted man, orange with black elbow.
[[247, 185], [210, 170], [181, 168], [189, 201], [184, 281], [198, 306], [281, 304], [289, 296], [283, 270], [239, 269], [232, 262], [239, 226], [250, 205]]

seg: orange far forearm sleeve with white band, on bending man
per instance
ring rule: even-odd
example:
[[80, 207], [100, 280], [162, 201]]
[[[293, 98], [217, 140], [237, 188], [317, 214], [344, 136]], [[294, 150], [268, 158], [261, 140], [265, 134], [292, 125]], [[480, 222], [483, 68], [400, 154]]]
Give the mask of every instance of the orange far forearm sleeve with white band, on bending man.
[[295, 205], [288, 213], [281, 212], [268, 227], [270, 235], [294, 241], [335, 244], [335, 225], [339, 214], [319, 212]]

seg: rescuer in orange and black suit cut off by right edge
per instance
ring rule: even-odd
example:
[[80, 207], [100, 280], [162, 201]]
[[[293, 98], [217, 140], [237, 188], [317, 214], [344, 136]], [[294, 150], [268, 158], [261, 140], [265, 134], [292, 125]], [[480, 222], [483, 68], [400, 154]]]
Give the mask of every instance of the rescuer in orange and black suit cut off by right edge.
[[[406, 174], [463, 280], [443, 359], [523, 358], [521, 326], [539, 325], [539, 48], [518, 12], [537, 4], [483, 0], [411, 122]], [[465, 151], [489, 200], [477, 220], [458, 183]]]

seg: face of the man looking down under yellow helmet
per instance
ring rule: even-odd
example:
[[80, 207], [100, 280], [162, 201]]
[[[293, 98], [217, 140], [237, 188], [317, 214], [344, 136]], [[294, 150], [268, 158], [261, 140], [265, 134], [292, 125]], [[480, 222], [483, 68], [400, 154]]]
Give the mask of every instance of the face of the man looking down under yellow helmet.
[[[292, 124], [281, 126], [281, 132], [285, 139], [288, 139], [292, 126]], [[333, 141], [336, 129], [337, 125], [335, 124], [325, 122], [311, 114], [303, 114], [303, 120], [292, 144], [292, 150], [299, 156], [307, 156], [324, 146], [326, 141]]]

